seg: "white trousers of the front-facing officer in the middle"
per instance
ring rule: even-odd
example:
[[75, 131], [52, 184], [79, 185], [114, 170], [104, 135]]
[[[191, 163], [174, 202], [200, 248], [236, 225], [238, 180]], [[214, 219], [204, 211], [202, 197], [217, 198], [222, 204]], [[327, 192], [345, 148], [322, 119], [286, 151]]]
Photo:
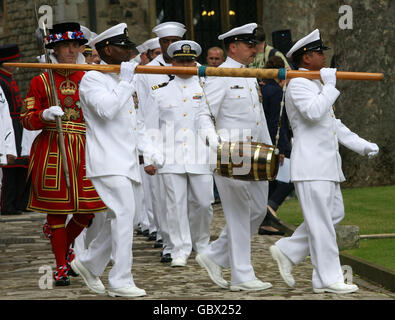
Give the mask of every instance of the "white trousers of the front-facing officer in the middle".
[[173, 244], [171, 257], [188, 258], [192, 248], [202, 252], [210, 241], [213, 218], [211, 174], [162, 173], [166, 191], [166, 217]]

